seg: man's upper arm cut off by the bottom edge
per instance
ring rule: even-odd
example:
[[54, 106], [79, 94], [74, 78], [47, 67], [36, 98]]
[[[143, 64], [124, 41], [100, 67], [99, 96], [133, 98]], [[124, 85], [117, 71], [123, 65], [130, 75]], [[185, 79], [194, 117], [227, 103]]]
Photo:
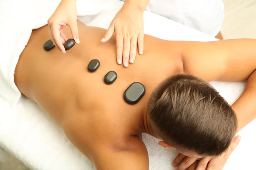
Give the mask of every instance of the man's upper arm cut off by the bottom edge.
[[127, 147], [95, 146], [93, 163], [97, 170], [148, 170], [148, 152], [138, 137]]

